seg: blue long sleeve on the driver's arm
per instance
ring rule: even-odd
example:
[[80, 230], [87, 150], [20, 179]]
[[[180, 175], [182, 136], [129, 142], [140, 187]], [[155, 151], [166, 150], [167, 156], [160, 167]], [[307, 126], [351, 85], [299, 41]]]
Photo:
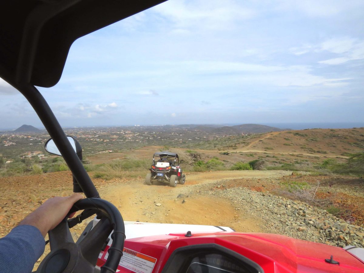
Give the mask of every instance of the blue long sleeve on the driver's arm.
[[0, 272], [32, 272], [44, 252], [45, 241], [39, 229], [20, 225], [0, 239]]

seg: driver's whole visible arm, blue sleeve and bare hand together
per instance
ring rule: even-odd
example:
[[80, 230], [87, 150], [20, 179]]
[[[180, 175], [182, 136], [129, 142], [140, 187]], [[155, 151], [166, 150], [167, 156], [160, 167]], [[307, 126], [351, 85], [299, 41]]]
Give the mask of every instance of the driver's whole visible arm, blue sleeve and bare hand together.
[[66, 217], [79, 199], [82, 199], [80, 194], [50, 198], [7, 236], [0, 238], [0, 271], [31, 272], [44, 252], [44, 237]]

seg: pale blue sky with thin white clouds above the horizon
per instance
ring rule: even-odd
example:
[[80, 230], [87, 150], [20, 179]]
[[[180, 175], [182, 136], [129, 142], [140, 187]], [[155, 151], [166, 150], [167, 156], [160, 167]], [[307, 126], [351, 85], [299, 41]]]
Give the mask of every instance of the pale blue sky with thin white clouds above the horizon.
[[[364, 1], [169, 0], [76, 40], [64, 127], [364, 122]], [[0, 79], [0, 128], [42, 127]]]

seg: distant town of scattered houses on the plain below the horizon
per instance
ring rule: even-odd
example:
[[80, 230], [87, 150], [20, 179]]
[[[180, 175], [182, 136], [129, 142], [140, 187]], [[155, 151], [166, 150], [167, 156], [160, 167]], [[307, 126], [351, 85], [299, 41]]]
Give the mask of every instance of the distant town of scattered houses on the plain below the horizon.
[[[78, 139], [84, 154], [111, 153], [150, 145], [185, 146], [229, 136], [244, 136], [257, 132], [277, 131], [278, 128], [259, 124], [244, 126], [218, 125], [156, 125], [125, 127], [78, 127], [64, 131]], [[254, 127], [254, 126], [255, 127]], [[253, 127], [254, 128], [253, 128]], [[23, 132], [25, 130], [25, 132]], [[10, 161], [14, 157], [47, 158], [44, 144], [49, 139], [46, 130], [23, 125], [15, 131], [0, 132], [0, 155]]]

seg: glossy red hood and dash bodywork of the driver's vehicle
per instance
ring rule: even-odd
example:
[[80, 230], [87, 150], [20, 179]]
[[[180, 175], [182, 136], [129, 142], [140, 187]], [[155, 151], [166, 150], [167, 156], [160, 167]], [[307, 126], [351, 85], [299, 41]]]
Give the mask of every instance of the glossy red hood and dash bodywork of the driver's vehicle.
[[[140, 223], [142, 224], [142, 223]], [[150, 272], [161, 272], [174, 250], [201, 244], [217, 244], [256, 262], [264, 272], [364, 272], [364, 264], [342, 248], [265, 233], [215, 232], [167, 234], [131, 238], [125, 241], [124, 251], [149, 257]], [[108, 246], [100, 255], [98, 265], [105, 261]], [[340, 265], [325, 259], [333, 256]], [[121, 272], [138, 272], [119, 266]]]

